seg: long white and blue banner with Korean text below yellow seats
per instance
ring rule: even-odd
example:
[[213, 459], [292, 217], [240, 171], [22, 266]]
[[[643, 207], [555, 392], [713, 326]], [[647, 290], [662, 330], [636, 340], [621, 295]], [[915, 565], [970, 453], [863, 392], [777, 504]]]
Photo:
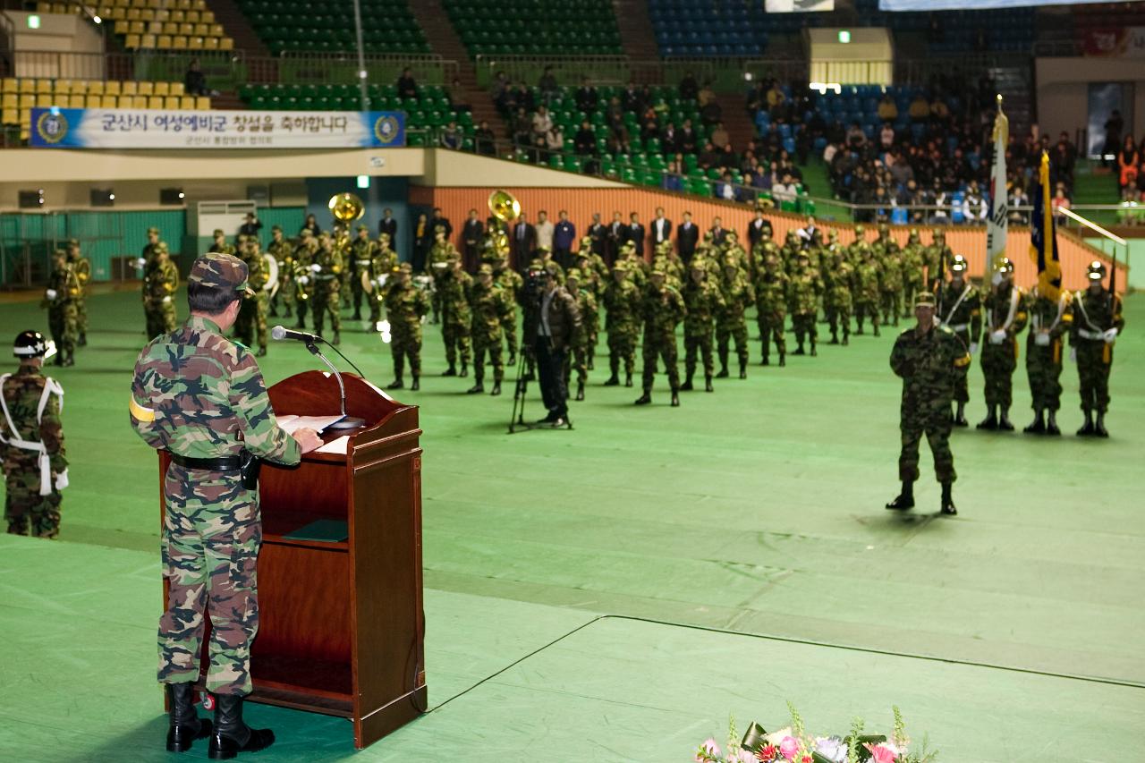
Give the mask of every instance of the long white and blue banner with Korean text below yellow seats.
[[402, 111], [32, 109], [31, 144], [94, 149], [395, 148]]

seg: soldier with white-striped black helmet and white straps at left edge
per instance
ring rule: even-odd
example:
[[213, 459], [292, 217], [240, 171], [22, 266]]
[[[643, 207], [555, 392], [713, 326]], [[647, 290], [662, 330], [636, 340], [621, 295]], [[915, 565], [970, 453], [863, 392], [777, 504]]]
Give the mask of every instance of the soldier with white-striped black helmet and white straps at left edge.
[[44, 376], [48, 341], [39, 331], [22, 331], [13, 343], [19, 361], [15, 373], [0, 376], [0, 464], [5, 473], [5, 521], [13, 535], [56, 537], [60, 490], [68, 487], [64, 450], [63, 387]]

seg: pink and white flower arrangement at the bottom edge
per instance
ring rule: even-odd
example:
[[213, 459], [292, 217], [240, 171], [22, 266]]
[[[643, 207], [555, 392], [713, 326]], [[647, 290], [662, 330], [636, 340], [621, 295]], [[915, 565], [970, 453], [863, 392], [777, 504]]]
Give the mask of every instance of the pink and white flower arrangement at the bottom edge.
[[768, 733], [758, 723], [752, 723], [743, 739], [735, 730], [735, 718], [728, 722], [727, 745], [720, 750], [713, 738], [696, 748], [696, 763], [933, 763], [938, 753], [927, 750], [923, 740], [922, 750], [910, 752], [910, 739], [899, 708], [894, 710], [894, 730], [891, 738], [884, 734], [864, 734], [862, 718], [851, 723], [846, 737], [815, 737], [806, 732], [803, 718], [795, 707], [790, 725]]

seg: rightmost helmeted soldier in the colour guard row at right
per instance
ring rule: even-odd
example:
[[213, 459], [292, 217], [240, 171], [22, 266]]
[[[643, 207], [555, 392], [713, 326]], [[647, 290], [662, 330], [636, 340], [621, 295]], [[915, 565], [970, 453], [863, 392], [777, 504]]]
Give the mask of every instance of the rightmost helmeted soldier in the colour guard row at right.
[[1077, 430], [1077, 436], [1107, 438], [1105, 411], [1110, 407], [1113, 344], [1126, 328], [1126, 318], [1121, 315], [1121, 297], [1101, 284], [1105, 265], [1093, 260], [1087, 275], [1089, 288], [1073, 298], [1074, 318], [1069, 331], [1071, 355], [1077, 363], [1081, 383], [1081, 410], [1085, 415], [1085, 424]]

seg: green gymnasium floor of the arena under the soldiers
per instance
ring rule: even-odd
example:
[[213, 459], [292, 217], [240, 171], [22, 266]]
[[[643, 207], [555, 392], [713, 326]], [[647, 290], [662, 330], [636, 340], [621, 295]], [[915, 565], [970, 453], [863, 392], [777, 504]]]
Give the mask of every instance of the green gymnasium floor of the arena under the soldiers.
[[[127, 426], [137, 294], [94, 297], [92, 345], [53, 369], [72, 461], [62, 541], [0, 538], [0, 758], [160, 761], [155, 455]], [[1127, 300], [1108, 441], [957, 432], [960, 516], [897, 491], [892, 331], [752, 365], [668, 406], [603, 388], [576, 428], [505, 433], [512, 400], [444, 379], [426, 328], [421, 406], [432, 713], [361, 753], [349, 724], [251, 706], [250, 760], [687, 761], [734, 714], [769, 730], [887, 727], [899, 705], [943, 762], [1139, 757], [1145, 729], [1145, 298]], [[0, 304], [5, 335], [44, 329]], [[344, 352], [390, 379], [373, 336]], [[7, 340], [7, 339], [6, 339]], [[602, 338], [603, 345], [603, 338]], [[752, 356], [758, 361], [758, 343]], [[310, 368], [276, 344], [275, 382]], [[1013, 418], [1028, 423], [1025, 373]], [[1067, 367], [1061, 425], [1080, 424]], [[971, 378], [972, 420], [982, 415]], [[539, 403], [532, 417], [543, 411]], [[925, 450], [925, 448], [924, 448]], [[205, 755], [196, 748], [188, 758]]]

